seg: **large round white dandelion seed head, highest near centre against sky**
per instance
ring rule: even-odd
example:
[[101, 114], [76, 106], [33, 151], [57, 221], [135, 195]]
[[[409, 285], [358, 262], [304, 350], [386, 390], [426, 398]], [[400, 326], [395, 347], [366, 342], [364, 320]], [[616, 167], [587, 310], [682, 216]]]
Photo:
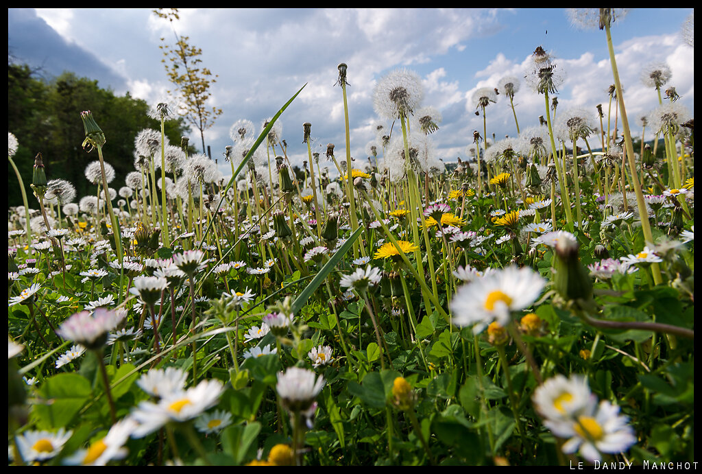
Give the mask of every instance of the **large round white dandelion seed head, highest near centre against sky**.
[[388, 120], [409, 117], [418, 109], [423, 96], [424, 89], [416, 72], [394, 70], [376, 84], [373, 110]]

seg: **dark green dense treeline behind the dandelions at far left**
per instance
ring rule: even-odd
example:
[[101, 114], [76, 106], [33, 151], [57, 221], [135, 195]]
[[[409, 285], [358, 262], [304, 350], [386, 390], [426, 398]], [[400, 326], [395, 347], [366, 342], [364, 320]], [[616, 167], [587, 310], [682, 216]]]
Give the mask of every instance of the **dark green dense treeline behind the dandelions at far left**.
[[[13, 157], [27, 193], [31, 192], [34, 157], [41, 153], [46, 166], [46, 178], [70, 181], [77, 190], [77, 199], [95, 193], [95, 187], [85, 177], [88, 163], [98, 159], [97, 152], [88, 153], [81, 147], [85, 138], [81, 111], [91, 110], [95, 121], [105, 132], [103, 147], [105, 161], [114, 166], [111, 187], [124, 186], [127, 173], [134, 171], [134, 137], [145, 128], [160, 130], [158, 121], [147, 116], [149, 105], [126, 93], [115, 96], [110, 89], [98, 86], [98, 81], [76, 77], [64, 72], [59, 77], [44, 80], [27, 65], [8, 64], [8, 131], [19, 142]], [[174, 145], [190, 129], [183, 119], [166, 122], [166, 136]], [[36, 209], [37, 200], [29, 197], [29, 206]], [[19, 185], [8, 164], [8, 204], [22, 204]]]

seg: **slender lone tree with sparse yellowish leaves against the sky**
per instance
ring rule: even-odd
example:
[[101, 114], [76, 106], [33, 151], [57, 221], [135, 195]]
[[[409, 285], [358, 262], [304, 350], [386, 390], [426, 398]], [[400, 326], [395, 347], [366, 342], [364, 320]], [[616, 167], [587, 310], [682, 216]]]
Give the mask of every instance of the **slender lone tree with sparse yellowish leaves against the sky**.
[[[164, 13], [163, 8], [154, 10], [154, 13], [159, 18], [165, 18], [171, 25], [173, 20], [178, 20], [178, 8], [171, 8], [169, 12]], [[214, 125], [217, 117], [222, 114], [222, 109], [217, 107], [209, 108], [206, 103], [210, 98], [211, 93], [209, 88], [211, 84], [216, 82], [217, 74], [213, 76], [212, 72], [206, 67], [199, 67], [202, 62], [200, 56], [202, 50], [188, 44], [189, 37], [180, 36], [173, 29], [173, 34], [176, 36], [175, 46], [168, 46], [165, 43], [159, 46], [164, 51], [165, 58], [161, 60], [166, 67], [168, 79], [176, 86], [178, 96], [183, 100], [179, 107], [179, 113], [185, 120], [192, 124], [200, 131], [202, 140], [202, 152], [205, 153], [205, 130]], [[171, 93], [171, 91], [168, 91]]]

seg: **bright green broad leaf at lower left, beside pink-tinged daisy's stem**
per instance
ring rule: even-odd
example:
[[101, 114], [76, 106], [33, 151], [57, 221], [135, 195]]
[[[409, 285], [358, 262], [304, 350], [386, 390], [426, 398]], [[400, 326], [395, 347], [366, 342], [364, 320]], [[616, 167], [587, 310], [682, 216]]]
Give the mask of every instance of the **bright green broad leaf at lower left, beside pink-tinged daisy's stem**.
[[67, 426], [75, 414], [91, 397], [90, 382], [79, 374], [58, 374], [47, 378], [39, 394], [46, 399], [44, 404], [34, 405], [39, 415], [39, 428], [61, 428]]

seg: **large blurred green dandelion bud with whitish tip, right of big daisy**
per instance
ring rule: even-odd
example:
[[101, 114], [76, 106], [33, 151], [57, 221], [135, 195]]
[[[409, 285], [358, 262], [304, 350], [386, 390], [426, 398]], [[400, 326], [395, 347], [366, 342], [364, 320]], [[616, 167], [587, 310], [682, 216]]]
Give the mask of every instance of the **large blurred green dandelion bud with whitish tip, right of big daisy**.
[[556, 291], [567, 301], [592, 298], [592, 280], [578, 256], [578, 241], [561, 236], [555, 244], [553, 283]]

